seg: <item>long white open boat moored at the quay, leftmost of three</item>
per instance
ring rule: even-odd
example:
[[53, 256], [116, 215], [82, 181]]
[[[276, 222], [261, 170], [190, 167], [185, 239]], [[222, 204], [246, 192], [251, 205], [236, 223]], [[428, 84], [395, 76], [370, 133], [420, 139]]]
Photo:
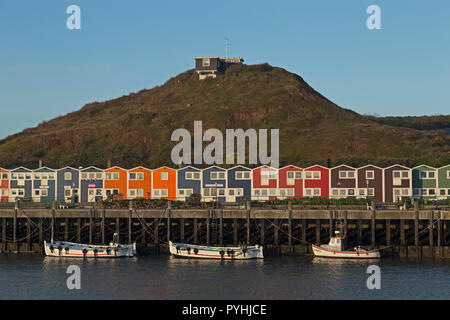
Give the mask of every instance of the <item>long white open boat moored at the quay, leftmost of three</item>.
[[81, 244], [67, 241], [44, 241], [45, 255], [72, 258], [121, 258], [136, 255], [136, 243], [120, 244], [117, 233], [109, 245]]

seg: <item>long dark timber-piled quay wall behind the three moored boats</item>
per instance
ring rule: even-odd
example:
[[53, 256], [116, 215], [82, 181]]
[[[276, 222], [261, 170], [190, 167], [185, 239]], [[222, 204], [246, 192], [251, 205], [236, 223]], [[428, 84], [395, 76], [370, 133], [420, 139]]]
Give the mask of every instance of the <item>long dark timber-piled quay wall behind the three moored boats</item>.
[[138, 253], [168, 253], [168, 241], [199, 245], [260, 244], [265, 255], [312, 255], [341, 230], [346, 247], [382, 256], [450, 258], [450, 211], [286, 209], [0, 209], [0, 249], [43, 252], [43, 241], [136, 242]]

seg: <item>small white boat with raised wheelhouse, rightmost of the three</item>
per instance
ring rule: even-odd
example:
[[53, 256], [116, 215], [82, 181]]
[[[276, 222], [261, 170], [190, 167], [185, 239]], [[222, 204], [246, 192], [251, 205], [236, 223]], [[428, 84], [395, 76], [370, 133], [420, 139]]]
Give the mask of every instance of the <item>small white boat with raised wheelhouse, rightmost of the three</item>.
[[352, 250], [345, 250], [342, 241], [344, 240], [344, 237], [340, 235], [339, 231], [335, 231], [334, 233], [336, 236], [330, 237], [330, 242], [328, 244], [320, 246], [311, 245], [316, 257], [348, 259], [379, 259], [381, 257], [378, 250], [370, 250], [361, 246], [357, 246]]

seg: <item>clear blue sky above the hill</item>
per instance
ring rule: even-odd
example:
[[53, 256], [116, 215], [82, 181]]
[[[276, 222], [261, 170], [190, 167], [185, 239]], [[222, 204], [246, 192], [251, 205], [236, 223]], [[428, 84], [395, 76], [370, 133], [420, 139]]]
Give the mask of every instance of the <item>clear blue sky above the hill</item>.
[[[66, 8], [81, 8], [69, 30]], [[381, 8], [381, 30], [366, 9]], [[363, 114], [450, 110], [450, 1], [1, 0], [0, 138], [193, 68], [268, 62]]]

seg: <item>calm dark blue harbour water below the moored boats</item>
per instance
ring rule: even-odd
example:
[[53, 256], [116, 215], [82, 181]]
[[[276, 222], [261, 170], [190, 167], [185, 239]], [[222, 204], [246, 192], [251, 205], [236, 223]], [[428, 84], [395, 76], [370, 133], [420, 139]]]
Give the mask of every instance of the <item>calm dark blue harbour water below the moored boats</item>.
[[[81, 289], [66, 286], [81, 268]], [[381, 289], [366, 286], [381, 268]], [[203, 261], [147, 256], [117, 260], [0, 255], [0, 299], [450, 299], [450, 261], [268, 257]]]

